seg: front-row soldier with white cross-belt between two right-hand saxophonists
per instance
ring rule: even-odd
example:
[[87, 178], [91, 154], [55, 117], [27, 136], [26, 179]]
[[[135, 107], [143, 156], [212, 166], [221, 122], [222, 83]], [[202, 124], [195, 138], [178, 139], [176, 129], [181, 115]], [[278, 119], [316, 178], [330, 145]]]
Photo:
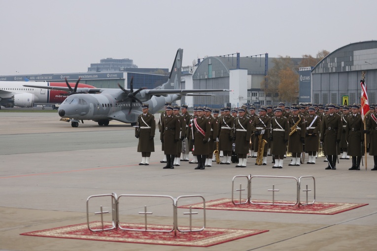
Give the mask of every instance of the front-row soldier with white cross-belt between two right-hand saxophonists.
[[283, 109], [275, 109], [275, 117], [271, 119], [271, 153], [275, 158], [273, 168], [283, 168], [285, 147], [289, 138], [288, 119], [283, 116]]

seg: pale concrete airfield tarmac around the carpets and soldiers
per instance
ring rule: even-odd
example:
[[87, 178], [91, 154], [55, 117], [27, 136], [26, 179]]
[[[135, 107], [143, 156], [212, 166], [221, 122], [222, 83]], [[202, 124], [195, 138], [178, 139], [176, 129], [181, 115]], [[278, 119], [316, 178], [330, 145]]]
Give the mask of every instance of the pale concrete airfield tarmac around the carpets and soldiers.
[[[349, 171], [351, 160], [340, 160], [337, 170], [325, 170], [324, 157], [317, 158], [315, 165], [301, 166], [288, 166], [290, 158], [287, 157], [283, 169], [273, 169], [271, 157], [266, 166], [256, 166], [255, 158], [248, 158], [246, 168], [213, 163], [206, 170], [194, 170], [195, 164], [181, 161], [175, 169], [162, 169], [158, 129], [154, 141], [156, 152], [152, 153], [150, 165], [139, 166], [141, 154], [137, 153], [134, 127], [118, 122], [98, 126], [85, 121], [73, 128], [59, 119], [55, 113], [0, 113], [0, 250], [204, 250], [20, 234], [85, 223], [86, 199], [90, 195], [112, 192], [173, 197], [200, 194], [209, 201], [231, 198], [233, 177], [248, 174], [313, 176], [317, 202], [369, 205], [336, 215], [207, 210], [207, 227], [270, 231], [206, 250], [376, 250], [377, 171], [370, 170], [373, 157], [368, 156], [367, 171], [365, 167]], [[292, 182], [286, 179], [258, 180], [253, 192], [258, 199], [271, 200], [271, 192], [267, 190], [273, 184], [280, 189], [275, 193], [276, 200], [295, 200]], [[144, 202], [153, 210], [153, 216], [148, 216], [149, 223], [171, 224], [170, 202], [146, 199], [140, 205], [135, 204], [137, 211], [142, 211]], [[140, 220], [134, 211], [135, 208], [122, 208], [122, 220]], [[201, 224], [201, 220], [194, 219], [195, 224]]]

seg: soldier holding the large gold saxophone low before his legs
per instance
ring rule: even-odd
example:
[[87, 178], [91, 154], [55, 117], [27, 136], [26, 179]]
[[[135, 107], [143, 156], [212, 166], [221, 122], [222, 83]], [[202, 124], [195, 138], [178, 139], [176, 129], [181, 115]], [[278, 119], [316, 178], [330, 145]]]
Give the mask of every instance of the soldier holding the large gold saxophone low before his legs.
[[[251, 130], [255, 135], [255, 149], [257, 149], [257, 153], [263, 155], [262, 165], [267, 165], [267, 146], [264, 147], [263, 152], [262, 149], [259, 148], [259, 145], [262, 146], [262, 142], [259, 144], [261, 140], [268, 140], [270, 138], [270, 130], [271, 127], [271, 118], [267, 116], [267, 108], [261, 107], [259, 108], [259, 116], [257, 116], [252, 125]], [[261, 137], [259, 137], [262, 135]], [[258, 164], [257, 162], [255, 163]]]

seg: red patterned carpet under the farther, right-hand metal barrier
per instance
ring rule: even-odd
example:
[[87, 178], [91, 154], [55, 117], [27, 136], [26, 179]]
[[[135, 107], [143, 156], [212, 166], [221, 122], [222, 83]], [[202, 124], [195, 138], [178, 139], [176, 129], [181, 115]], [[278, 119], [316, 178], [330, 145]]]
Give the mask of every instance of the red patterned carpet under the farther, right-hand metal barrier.
[[[236, 201], [236, 200], [235, 200]], [[237, 201], [236, 201], [237, 202]], [[267, 200], [255, 200], [253, 202], [272, 203]], [[276, 203], [294, 203], [292, 201], [275, 201]], [[255, 205], [241, 204], [234, 205], [232, 199], [217, 199], [206, 202], [206, 209], [214, 210], [234, 210], [234, 211], [252, 211], [252, 212], [274, 212], [274, 213], [292, 213], [292, 214], [318, 214], [318, 215], [335, 215], [368, 204], [356, 203], [327, 203], [315, 202], [308, 206], [279, 206], [279, 205]], [[203, 203], [180, 206], [179, 208], [203, 209]]]

